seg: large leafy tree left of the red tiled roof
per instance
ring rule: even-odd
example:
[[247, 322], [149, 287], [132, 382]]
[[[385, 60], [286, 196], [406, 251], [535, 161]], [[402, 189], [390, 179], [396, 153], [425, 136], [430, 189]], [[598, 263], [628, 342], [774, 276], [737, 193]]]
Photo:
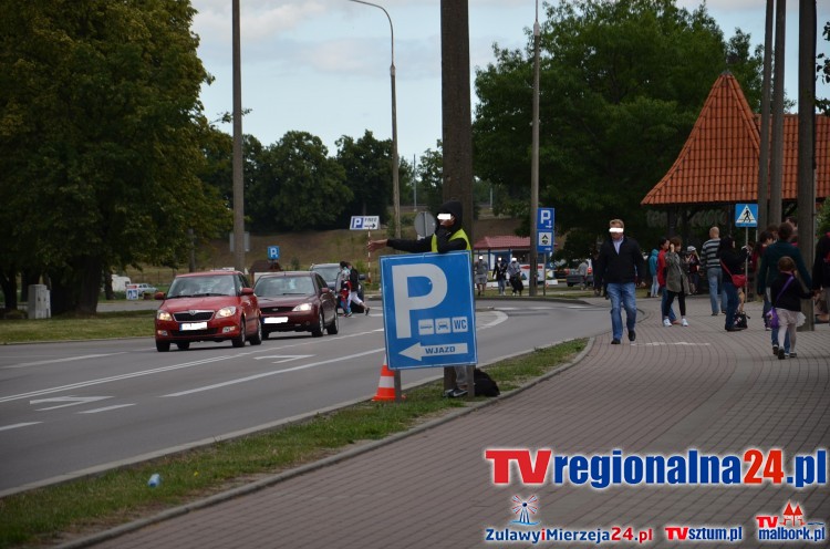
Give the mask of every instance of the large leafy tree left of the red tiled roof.
[[[637, 234], [640, 200], [676, 158], [718, 74], [728, 66], [750, 102], [760, 95], [759, 52], [750, 55], [740, 32], [726, 42], [705, 4], [569, 0], [548, 6], [547, 18], [539, 203], [557, 208], [558, 232], [600, 235], [622, 217]], [[476, 76], [477, 175], [496, 186], [497, 213], [529, 219], [532, 37], [525, 51], [495, 54]]]

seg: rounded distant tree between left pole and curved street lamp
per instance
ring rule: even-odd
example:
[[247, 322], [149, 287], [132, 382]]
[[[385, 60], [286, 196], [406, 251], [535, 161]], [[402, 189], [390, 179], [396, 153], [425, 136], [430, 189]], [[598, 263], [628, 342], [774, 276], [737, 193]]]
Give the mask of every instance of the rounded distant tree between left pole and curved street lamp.
[[[253, 139], [251, 139], [253, 143]], [[246, 209], [258, 232], [332, 227], [353, 193], [345, 172], [320, 137], [287, 132], [261, 154], [252, 154], [256, 177]]]

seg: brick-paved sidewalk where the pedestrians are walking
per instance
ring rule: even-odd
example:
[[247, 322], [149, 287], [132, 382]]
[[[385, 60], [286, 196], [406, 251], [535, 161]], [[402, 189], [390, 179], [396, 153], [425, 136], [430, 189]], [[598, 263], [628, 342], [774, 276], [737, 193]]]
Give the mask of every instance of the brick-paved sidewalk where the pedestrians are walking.
[[[604, 300], [591, 301], [606, 307]], [[651, 528], [647, 547], [699, 547], [667, 541], [665, 527], [701, 526], [713, 528], [708, 534], [743, 528], [741, 543], [708, 542], [707, 548], [758, 547], [756, 516], [784, 520], [788, 501], [799, 504], [806, 522], [830, 522], [827, 484], [800, 490], [769, 483], [594, 489], [554, 484], [550, 473], [544, 484], [522, 485], [512, 466], [513, 483], [494, 485], [487, 448], [551, 448], [554, 456], [610, 456], [615, 448], [624, 456], [685, 456], [697, 448], [722, 457], [781, 448], [789, 473], [793, 455], [830, 447], [827, 324], [799, 332], [798, 358], [779, 361], [762, 328], [760, 303], [747, 305], [750, 328], [737, 333], [724, 330], [723, 315], [709, 314], [707, 297], [688, 300], [688, 328], [662, 327], [657, 299], [637, 304], [634, 344], [611, 345], [609, 320], [609, 333], [592, 341], [577, 364], [511, 397], [257, 491], [66, 547], [93, 541], [120, 549], [505, 547], [485, 541], [488, 527], [609, 534], [632, 527], [634, 536]], [[822, 463], [819, 469], [827, 467]], [[515, 496], [538, 498], [530, 519], [539, 526], [510, 524], [519, 518], [511, 511]], [[539, 545], [546, 543], [596, 547]], [[637, 543], [612, 543], [619, 545]]]

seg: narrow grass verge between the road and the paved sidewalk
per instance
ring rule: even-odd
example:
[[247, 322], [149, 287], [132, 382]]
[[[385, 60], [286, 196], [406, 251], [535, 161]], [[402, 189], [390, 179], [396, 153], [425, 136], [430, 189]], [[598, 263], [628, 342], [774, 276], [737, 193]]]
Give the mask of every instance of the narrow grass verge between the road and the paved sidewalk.
[[[537, 350], [487, 372], [504, 393], [561, 366], [585, 344], [575, 340]], [[442, 397], [442, 382], [406, 395], [401, 404], [363, 402], [271, 432], [8, 496], [0, 499], [0, 548], [89, 536], [378, 441], [468, 405], [465, 400]], [[154, 473], [162, 475], [162, 484], [149, 488], [147, 479]]]

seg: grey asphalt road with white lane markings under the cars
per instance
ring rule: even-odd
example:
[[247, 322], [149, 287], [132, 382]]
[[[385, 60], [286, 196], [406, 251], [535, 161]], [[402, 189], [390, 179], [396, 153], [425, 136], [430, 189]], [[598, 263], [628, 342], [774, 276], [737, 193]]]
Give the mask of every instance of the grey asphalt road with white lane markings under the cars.
[[[476, 307], [479, 365], [610, 327], [606, 308], [578, 302]], [[2, 346], [0, 496], [370, 398], [384, 345], [373, 307], [370, 317], [341, 318], [338, 335], [272, 334], [242, 349], [158, 353], [152, 338]], [[440, 376], [407, 370], [402, 381]]]

